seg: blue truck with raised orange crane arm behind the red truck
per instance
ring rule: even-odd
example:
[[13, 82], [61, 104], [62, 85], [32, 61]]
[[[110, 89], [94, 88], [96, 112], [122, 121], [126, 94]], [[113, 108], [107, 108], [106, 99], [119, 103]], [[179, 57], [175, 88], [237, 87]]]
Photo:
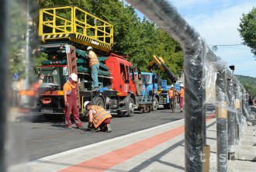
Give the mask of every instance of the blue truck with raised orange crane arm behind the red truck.
[[140, 83], [137, 83], [137, 88], [140, 88], [140, 90], [137, 91], [139, 93], [139, 106], [136, 110], [140, 113], [155, 111], [159, 105], [164, 105], [164, 108], [170, 108], [168, 90], [171, 85], [167, 84], [167, 80], [161, 80], [160, 74], [154, 74], [153, 69], [155, 67], [159, 67], [164, 74], [167, 74], [171, 82], [175, 83], [176, 81], [176, 78], [165, 65], [164, 60], [161, 57], [153, 56], [153, 60], [147, 66], [148, 72], [136, 73], [137, 81], [140, 81]]

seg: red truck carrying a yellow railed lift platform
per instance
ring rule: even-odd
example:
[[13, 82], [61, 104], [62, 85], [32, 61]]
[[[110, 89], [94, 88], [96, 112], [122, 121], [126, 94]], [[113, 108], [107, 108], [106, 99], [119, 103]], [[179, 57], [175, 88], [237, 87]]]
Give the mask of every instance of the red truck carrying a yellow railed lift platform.
[[[132, 116], [137, 108], [137, 81], [133, 64], [127, 58], [109, 53], [113, 26], [75, 6], [40, 9], [40, 50], [47, 59], [39, 67], [43, 78], [36, 110], [47, 119], [64, 115], [64, 83], [71, 73], [78, 74], [77, 102], [80, 114], [84, 102], [92, 101], [118, 115]], [[92, 91], [91, 67], [86, 47], [99, 54], [99, 90]], [[123, 73], [123, 77], [121, 74]]]

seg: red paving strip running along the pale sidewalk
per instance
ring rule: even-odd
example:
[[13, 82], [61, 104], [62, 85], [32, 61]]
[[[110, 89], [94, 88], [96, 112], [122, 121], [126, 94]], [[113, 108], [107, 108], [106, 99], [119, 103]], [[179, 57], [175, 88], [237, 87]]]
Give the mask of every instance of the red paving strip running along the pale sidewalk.
[[[213, 119], [214, 115], [210, 115], [206, 118], [206, 121]], [[118, 150], [113, 150], [110, 153], [103, 154], [102, 156], [95, 157], [91, 160], [86, 160], [82, 163], [78, 163], [74, 166], [67, 167], [64, 170], [59, 170], [60, 172], [98, 172], [103, 170], [108, 170], [111, 167], [116, 166], [119, 163], [123, 163], [126, 160], [144, 153], [147, 150], [154, 148], [175, 136], [178, 136], [185, 132], [184, 126], [179, 126], [175, 129], [171, 129], [167, 132], [163, 132], [156, 136], [150, 137], [148, 139], [143, 139], [140, 142], [133, 143], [129, 146], [125, 146]], [[97, 150], [95, 150], [97, 151]], [[72, 158], [72, 157], [71, 157]]]

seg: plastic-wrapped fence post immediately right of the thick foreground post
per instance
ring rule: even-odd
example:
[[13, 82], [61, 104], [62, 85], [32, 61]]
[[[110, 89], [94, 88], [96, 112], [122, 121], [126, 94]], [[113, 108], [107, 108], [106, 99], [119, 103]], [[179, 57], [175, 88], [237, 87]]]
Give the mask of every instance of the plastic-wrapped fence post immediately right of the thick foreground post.
[[226, 72], [217, 73], [216, 79], [216, 130], [217, 130], [217, 171], [227, 171], [227, 100]]

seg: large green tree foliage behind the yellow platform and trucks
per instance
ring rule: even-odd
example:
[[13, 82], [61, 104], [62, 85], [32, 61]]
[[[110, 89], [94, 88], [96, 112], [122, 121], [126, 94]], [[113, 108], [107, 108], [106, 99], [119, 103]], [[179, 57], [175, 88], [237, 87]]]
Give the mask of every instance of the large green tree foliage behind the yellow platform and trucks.
[[[76, 5], [111, 23], [114, 26], [113, 53], [129, 54], [130, 62], [140, 66], [141, 71], [147, 70], [147, 64], [152, 60], [153, 55], [163, 57], [174, 74], [180, 74], [182, 71], [183, 54], [178, 43], [153, 22], [146, 18], [140, 19], [130, 5], [124, 5], [119, 0], [40, 0], [38, 2], [40, 8]], [[33, 20], [38, 22], [38, 16], [35, 15]], [[40, 59], [33, 60], [36, 65], [40, 61]]]

